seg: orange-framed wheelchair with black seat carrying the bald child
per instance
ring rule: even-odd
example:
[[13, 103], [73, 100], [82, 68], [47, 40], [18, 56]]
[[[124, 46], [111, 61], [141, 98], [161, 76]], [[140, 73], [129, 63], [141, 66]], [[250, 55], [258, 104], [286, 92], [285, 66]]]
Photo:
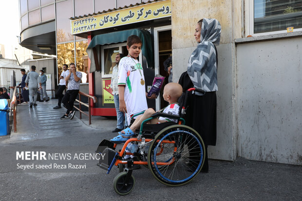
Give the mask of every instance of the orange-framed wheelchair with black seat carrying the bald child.
[[[113, 165], [118, 167], [119, 174], [113, 180], [113, 188], [117, 194], [127, 195], [132, 191], [135, 183], [132, 175], [133, 164], [147, 166], [156, 180], [168, 186], [184, 185], [198, 175], [205, 161], [205, 145], [201, 136], [185, 125], [184, 119], [189, 115], [186, 114], [189, 107], [187, 102], [189, 93], [193, 91], [205, 93], [198, 88], [185, 91], [179, 102], [180, 115], [154, 113], [151, 118], [142, 122], [140, 129], [125, 142], [121, 150], [115, 150], [117, 144], [108, 140], [101, 141], [95, 152], [104, 157], [100, 157], [97, 166], [105, 169], [107, 174]], [[159, 116], [177, 119], [178, 122], [146, 124]], [[126, 151], [130, 143], [137, 147], [134, 153]], [[137, 160], [125, 160], [126, 155], [133, 155]]]

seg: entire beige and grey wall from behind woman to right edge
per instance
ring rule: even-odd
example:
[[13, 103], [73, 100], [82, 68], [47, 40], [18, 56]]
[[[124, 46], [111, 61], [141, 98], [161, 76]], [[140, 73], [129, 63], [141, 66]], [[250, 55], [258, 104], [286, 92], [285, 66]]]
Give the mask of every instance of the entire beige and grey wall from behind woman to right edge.
[[242, 38], [243, 2], [172, 0], [173, 81], [187, 70], [197, 21], [218, 19], [217, 144], [209, 158], [302, 165], [302, 32]]

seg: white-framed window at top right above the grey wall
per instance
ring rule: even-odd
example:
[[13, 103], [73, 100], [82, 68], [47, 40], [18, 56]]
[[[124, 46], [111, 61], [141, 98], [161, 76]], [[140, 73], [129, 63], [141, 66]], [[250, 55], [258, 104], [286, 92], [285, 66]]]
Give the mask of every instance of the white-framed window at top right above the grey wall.
[[252, 36], [302, 30], [302, 0], [250, 0], [248, 6]]

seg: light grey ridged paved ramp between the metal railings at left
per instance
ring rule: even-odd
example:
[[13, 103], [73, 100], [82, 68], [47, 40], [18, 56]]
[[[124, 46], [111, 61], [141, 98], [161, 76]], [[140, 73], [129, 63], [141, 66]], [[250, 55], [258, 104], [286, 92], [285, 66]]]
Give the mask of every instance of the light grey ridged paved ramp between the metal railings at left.
[[88, 117], [82, 114], [82, 120], [79, 119], [79, 111], [73, 120], [60, 117], [66, 112], [66, 109], [54, 110], [57, 105], [57, 99], [48, 102], [37, 102], [38, 106], [30, 108], [28, 105], [18, 105], [17, 113], [17, 132], [13, 130], [10, 135], [10, 141], [20, 142], [24, 140], [37, 140], [63, 136], [68, 133], [86, 132], [86, 129], [113, 130], [116, 124], [114, 118], [93, 116], [92, 124], [89, 126]]

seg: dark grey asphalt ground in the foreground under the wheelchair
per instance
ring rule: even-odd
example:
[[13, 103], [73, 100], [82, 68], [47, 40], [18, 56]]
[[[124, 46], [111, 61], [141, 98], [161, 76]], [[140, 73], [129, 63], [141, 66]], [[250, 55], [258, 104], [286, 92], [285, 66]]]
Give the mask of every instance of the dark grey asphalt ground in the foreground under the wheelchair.
[[[80, 120], [76, 118], [76, 121]], [[209, 173], [200, 173], [191, 183], [179, 187], [159, 183], [148, 168], [142, 167], [133, 171], [135, 186], [126, 196], [119, 196], [113, 190], [113, 179], [118, 169], [113, 168], [107, 175], [105, 170], [96, 166], [94, 160], [85, 162], [86, 168], [76, 170], [28, 171], [17, 168], [18, 163], [49, 163], [43, 160], [17, 160], [16, 151], [35, 150], [71, 155], [93, 153], [102, 139], [116, 135], [111, 132], [115, 128], [114, 122], [113, 119], [103, 118], [92, 127], [79, 123], [81, 127], [69, 128], [60, 134], [55, 133], [57, 130], [47, 131], [54, 132], [52, 135], [36, 129], [42, 137], [0, 137], [0, 201], [302, 200], [302, 166], [247, 161], [243, 158], [235, 162], [209, 160]], [[60, 163], [60, 160], [56, 163]], [[70, 160], [70, 163], [76, 162]]]

